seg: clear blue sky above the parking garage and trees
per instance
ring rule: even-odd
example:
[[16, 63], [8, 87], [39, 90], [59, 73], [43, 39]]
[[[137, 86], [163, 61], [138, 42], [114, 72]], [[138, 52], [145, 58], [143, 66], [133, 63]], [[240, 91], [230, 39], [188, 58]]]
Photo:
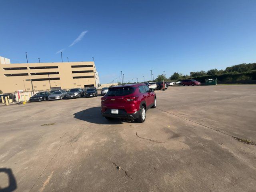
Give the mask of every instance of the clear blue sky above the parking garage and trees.
[[[256, 62], [255, 0], [6, 0], [0, 56], [91, 61], [101, 83]], [[84, 32], [80, 41], [70, 46]]]

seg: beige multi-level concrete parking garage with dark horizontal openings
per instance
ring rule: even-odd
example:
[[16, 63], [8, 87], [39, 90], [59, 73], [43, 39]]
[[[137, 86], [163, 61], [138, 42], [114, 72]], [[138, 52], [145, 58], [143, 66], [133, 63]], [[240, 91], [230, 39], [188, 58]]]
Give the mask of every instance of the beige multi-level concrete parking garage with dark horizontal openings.
[[[30, 81], [32, 80], [32, 82]], [[0, 90], [52, 90], [96, 87], [100, 83], [94, 62], [19, 63], [0, 57]]]

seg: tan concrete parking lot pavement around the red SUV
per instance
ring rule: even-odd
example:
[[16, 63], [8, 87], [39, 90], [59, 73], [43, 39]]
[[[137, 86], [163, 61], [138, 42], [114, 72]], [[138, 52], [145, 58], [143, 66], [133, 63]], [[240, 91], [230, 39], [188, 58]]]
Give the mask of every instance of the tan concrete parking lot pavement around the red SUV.
[[235, 139], [256, 143], [255, 85], [156, 94], [142, 124], [107, 121], [100, 96], [0, 106], [0, 187], [7, 168], [22, 192], [255, 191], [256, 146]]

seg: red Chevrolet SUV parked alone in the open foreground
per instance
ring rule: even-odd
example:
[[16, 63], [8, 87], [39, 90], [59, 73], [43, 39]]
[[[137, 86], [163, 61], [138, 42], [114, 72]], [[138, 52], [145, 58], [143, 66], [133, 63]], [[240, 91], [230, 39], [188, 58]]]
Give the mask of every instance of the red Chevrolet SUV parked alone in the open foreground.
[[149, 108], [156, 108], [156, 94], [145, 84], [110, 87], [101, 98], [101, 112], [107, 120], [134, 119], [142, 123]]

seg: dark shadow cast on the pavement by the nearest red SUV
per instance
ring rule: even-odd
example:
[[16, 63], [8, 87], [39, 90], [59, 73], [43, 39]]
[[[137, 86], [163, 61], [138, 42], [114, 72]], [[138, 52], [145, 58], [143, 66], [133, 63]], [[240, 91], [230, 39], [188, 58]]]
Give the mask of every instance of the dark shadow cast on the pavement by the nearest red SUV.
[[137, 123], [133, 120], [125, 120], [125, 119], [106, 120], [106, 118], [104, 118], [100, 112], [100, 107], [92, 107], [92, 108], [74, 113], [74, 118], [87, 121], [90, 123], [105, 124], [105, 125], [123, 124], [124, 122]]

